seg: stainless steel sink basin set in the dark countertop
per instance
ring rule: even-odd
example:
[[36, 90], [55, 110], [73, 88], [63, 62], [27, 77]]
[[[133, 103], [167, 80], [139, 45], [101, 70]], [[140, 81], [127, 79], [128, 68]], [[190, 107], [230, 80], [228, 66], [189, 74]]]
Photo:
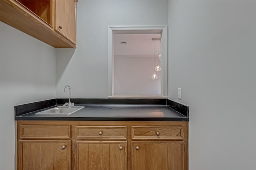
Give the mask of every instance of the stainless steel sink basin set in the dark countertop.
[[38, 112], [36, 114], [72, 114], [82, 108], [84, 108], [84, 106], [74, 106], [72, 108], [68, 108], [66, 106], [58, 106], [55, 108], [44, 110], [42, 112]]

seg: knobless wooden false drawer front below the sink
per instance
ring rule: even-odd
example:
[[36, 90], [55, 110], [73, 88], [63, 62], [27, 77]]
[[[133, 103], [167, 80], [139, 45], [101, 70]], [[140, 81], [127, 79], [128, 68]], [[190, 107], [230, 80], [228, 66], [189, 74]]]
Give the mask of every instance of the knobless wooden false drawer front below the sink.
[[34, 126], [21, 125], [20, 138], [56, 138], [70, 139], [70, 126]]

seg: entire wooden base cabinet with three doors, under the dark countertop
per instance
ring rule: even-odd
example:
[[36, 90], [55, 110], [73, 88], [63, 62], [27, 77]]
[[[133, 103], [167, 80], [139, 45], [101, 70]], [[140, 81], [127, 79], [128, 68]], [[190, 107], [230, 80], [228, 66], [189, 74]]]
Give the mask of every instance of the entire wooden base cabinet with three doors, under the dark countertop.
[[18, 170], [188, 170], [188, 122], [20, 120], [17, 128]]

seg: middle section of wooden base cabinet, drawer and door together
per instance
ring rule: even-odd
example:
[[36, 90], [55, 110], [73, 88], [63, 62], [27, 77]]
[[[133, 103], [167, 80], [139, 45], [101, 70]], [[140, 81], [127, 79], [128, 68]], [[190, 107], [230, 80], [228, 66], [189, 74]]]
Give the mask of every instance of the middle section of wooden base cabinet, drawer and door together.
[[76, 126], [76, 170], [127, 170], [126, 138], [126, 126]]

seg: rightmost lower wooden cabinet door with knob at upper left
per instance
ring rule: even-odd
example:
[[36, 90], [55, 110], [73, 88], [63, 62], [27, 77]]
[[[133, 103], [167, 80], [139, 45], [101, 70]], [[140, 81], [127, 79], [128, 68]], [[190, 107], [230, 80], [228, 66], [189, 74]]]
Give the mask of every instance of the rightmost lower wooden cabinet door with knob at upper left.
[[184, 170], [184, 142], [132, 142], [132, 170]]

